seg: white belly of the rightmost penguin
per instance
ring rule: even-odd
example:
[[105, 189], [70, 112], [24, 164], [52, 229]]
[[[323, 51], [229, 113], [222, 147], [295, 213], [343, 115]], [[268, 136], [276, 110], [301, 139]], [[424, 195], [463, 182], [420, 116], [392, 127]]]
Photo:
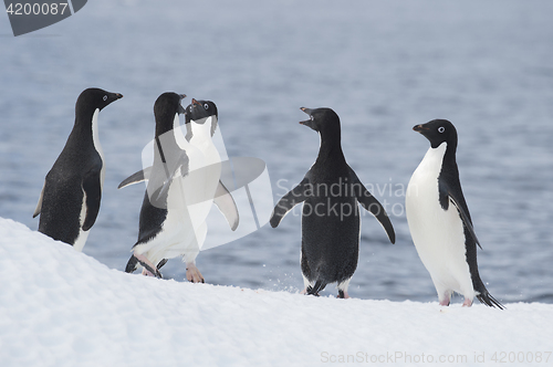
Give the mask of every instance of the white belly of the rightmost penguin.
[[430, 148], [413, 174], [406, 193], [406, 214], [413, 242], [438, 293], [473, 294], [466, 259], [463, 224], [456, 207], [439, 203], [438, 176], [446, 144]]

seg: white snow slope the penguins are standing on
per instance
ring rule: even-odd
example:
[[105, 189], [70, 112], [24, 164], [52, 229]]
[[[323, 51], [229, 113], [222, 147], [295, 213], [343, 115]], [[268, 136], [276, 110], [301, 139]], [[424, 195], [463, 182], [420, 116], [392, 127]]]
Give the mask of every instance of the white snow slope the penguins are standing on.
[[553, 305], [440, 307], [158, 280], [1, 218], [0, 280], [2, 366], [553, 361]]

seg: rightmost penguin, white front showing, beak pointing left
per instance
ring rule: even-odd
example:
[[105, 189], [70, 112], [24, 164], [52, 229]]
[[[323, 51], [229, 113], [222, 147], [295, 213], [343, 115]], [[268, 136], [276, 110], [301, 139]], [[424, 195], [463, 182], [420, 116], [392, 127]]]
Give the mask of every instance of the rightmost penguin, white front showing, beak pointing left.
[[480, 242], [461, 190], [453, 124], [435, 119], [413, 129], [430, 141], [430, 148], [407, 187], [407, 222], [440, 305], [449, 305], [452, 293], [457, 292], [465, 296], [463, 306], [471, 306], [476, 296], [488, 306], [503, 308], [478, 273]]

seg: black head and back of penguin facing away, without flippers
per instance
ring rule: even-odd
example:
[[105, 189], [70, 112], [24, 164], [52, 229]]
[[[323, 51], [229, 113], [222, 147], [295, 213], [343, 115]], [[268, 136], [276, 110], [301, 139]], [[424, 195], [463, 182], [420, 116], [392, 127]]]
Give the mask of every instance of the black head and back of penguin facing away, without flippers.
[[312, 192], [302, 214], [302, 271], [307, 280], [327, 283], [352, 277], [357, 268], [359, 213], [352, 190], [352, 169], [341, 146], [340, 118], [330, 108], [304, 109], [302, 124], [321, 135], [315, 164], [305, 176]]

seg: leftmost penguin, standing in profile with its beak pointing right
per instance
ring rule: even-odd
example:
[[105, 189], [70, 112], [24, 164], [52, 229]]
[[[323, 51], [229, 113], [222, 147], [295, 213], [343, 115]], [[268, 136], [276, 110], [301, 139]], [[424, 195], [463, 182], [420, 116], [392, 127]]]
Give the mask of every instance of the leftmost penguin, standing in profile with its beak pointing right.
[[98, 140], [98, 114], [118, 93], [87, 88], [75, 105], [75, 125], [48, 172], [33, 218], [39, 231], [81, 251], [100, 210], [104, 156]]

